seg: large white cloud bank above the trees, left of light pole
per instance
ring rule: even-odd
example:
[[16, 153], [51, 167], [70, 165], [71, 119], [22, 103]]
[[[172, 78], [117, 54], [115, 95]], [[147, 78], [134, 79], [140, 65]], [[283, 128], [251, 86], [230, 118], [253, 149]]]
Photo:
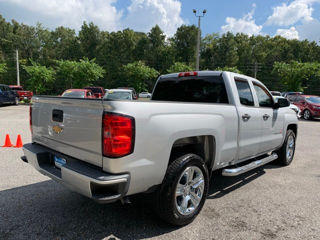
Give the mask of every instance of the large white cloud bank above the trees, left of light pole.
[[40, 21], [51, 29], [63, 25], [77, 31], [83, 21], [92, 21], [101, 30], [130, 27], [146, 32], [158, 24], [171, 36], [185, 23], [180, 16], [179, 0], [131, 0], [126, 16], [123, 16], [123, 9], [114, 6], [117, 1], [120, 0], [0, 0], [15, 9], [13, 14], [22, 16], [19, 19], [24, 22], [34, 24]]

